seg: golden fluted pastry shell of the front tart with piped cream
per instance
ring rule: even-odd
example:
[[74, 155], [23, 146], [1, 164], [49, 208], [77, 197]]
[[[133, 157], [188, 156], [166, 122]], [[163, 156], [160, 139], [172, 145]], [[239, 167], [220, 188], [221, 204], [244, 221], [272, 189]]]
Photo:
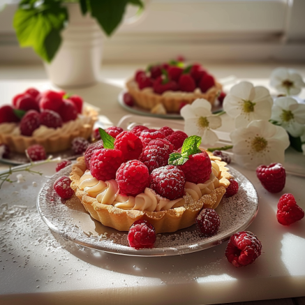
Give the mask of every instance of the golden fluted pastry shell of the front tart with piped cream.
[[[226, 163], [219, 161], [217, 157], [214, 160], [220, 168], [217, 187], [207, 188], [206, 194], [196, 201], [190, 194], [186, 193], [184, 196], [186, 204], [165, 211], [120, 209], [112, 204], [101, 204], [96, 198], [90, 197], [86, 191], [80, 188], [80, 179], [87, 170], [84, 157], [77, 158], [77, 162], [72, 167], [70, 173], [71, 188], [73, 188], [77, 198], [80, 199], [91, 217], [105, 226], [119, 231], [128, 231], [135, 221], [144, 219], [154, 225], [156, 233], [175, 232], [193, 225], [202, 207], [215, 209], [223, 198], [225, 188], [230, 185], [227, 178], [230, 179], [231, 176], [229, 176], [228, 168], [225, 168]], [[225, 173], [224, 176], [221, 174], [222, 172]]]

